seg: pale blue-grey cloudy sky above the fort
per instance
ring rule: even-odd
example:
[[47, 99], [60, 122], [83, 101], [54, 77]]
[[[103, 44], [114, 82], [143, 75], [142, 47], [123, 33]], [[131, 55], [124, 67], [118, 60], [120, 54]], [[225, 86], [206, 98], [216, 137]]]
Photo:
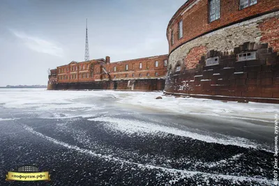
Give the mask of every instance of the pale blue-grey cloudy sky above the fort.
[[47, 84], [47, 69], [90, 59], [168, 53], [166, 29], [185, 0], [0, 0], [0, 86]]

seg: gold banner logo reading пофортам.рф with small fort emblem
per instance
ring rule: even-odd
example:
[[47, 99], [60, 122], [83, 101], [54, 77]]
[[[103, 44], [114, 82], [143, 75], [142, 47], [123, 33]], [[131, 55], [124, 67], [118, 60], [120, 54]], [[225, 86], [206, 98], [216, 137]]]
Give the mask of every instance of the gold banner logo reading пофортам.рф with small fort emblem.
[[17, 172], [8, 171], [6, 181], [50, 181], [50, 173], [39, 172], [36, 166], [22, 166]]

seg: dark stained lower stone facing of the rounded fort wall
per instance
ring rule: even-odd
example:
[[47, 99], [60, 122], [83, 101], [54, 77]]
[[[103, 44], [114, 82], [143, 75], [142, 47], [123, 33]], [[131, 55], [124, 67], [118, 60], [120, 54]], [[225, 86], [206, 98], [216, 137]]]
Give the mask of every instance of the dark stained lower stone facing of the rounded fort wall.
[[[255, 60], [238, 61], [238, 53], [256, 52]], [[206, 59], [219, 57], [218, 65]], [[245, 42], [234, 52], [211, 50], [197, 68], [169, 72], [165, 93], [231, 101], [279, 103], [279, 56], [268, 44]]]

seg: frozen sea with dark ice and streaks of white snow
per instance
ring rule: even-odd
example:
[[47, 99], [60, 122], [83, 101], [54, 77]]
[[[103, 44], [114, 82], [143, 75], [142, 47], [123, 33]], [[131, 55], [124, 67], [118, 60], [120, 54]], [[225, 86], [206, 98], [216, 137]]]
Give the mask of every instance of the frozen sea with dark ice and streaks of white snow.
[[0, 89], [0, 185], [24, 165], [52, 185], [272, 184], [278, 104], [162, 94]]

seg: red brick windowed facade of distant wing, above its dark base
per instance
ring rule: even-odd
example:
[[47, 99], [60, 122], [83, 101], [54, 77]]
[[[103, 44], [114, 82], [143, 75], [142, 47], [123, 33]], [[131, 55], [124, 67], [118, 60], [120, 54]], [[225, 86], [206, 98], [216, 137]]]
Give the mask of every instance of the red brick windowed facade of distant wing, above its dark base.
[[167, 74], [167, 61], [167, 54], [113, 63], [106, 63], [104, 59], [80, 63], [72, 61], [68, 65], [57, 67], [57, 82], [100, 82], [110, 79], [164, 79]]

